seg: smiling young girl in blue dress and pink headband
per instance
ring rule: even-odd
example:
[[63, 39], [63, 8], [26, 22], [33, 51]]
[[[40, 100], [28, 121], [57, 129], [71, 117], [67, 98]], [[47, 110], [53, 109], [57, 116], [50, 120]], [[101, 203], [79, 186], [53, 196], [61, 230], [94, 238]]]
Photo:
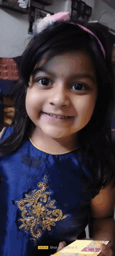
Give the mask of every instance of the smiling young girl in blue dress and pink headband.
[[15, 116], [1, 132], [2, 256], [72, 243], [91, 199], [114, 182], [112, 46], [84, 21], [57, 16], [38, 23], [22, 54]]

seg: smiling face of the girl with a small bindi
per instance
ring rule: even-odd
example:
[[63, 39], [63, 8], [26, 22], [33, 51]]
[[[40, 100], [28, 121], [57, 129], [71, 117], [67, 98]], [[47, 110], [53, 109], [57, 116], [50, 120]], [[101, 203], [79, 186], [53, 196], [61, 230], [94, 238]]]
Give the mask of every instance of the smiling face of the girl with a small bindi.
[[[43, 59], [35, 70], [27, 88], [26, 110], [36, 125], [36, 138], [72, 149], [77, 146], [77, 132], [93, 115], [97, 99], [93, 61], [88, 53], [72, 51]], [[71, 118], [53, 119], [42, 112]]]

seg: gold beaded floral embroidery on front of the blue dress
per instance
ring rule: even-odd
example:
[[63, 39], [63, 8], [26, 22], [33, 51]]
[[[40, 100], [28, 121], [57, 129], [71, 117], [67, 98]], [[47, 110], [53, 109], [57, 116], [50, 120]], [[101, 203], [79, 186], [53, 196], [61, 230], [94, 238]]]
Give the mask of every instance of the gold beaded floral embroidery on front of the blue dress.
[[[22, 211], [18, 221], [22, 222], [21, 228], [25, 228], [25, 232], [30, 230], [31, 236], [34, 239], [42, 236], [42, 230], [51, 230], [50, 226], [55, 226], [55, 222], [65, 219], [68, 215], [64, 215], [61, 209], [56, 209], [55, 200], [51, 200], [51, 191], [47, 186], [47, 175], [44, 175], [44, 182], [37, 184], [40, 190], [29, 191], [25, 194], [25, 198], [20, 201], [15, 201], [19, 210]], [[45, 203], [45, 205], [43, 204]], [[52, 210], [54, 209], [54, 210]], [[54, 216], [56, 218], [54, 218]]]

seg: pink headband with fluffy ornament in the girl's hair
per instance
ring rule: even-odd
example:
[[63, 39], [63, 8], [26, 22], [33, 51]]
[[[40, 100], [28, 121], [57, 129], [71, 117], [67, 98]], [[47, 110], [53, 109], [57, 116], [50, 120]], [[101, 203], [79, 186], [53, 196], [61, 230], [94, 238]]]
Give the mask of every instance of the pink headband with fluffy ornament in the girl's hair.
[[[54, 15], [47, 14], [46, 17], [44, 17], [43, 19], [40, 19], [40, 21], [38, 21], [37, 32], [41, 32], [44, 28], [46, 28], [48, 26], [48, 23], [52, 24], [52, 23], [54, 23], [57, 20], [66, 20], [69, 16], [70, 16], [70, 12], [67, 12], [67, 13], [66, 12], [62, 13], [61, 12], [61, 13], [56, 13]], [[89, 32], [94, 37], [96, 37], [93, 32], [91, 32], [89, 29], [83, 27], [82, 25], [75, 24], [75, 23], [72, 23], [72, 24], [79, 26], [80, 28], [84, 29], [85, 31]], [[99, 43], [99, 45], [101, 47], [103, 55], [106, 58], [106, 52], [105, 52], [101, 42], [99, 41], [99, 39], [97, 37], [96, 37], [96, 39], [98, 40], [98, 43]]]

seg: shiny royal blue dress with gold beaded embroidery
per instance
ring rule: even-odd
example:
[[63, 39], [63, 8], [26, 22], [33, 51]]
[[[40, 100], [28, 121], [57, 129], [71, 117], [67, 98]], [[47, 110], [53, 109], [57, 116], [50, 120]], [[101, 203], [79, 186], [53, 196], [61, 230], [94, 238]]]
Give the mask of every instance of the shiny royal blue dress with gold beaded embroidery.
[[[14, 127], [4, 129], [6, 139]], [[90, 200], [82, 180], [95, 179], [78, 162], [78, 149], [62, 154], [40, 150], [28, 138], [10, 155], [0, 157], [1, 256], [34, 256], [70, 244], [88, 225]], [[38, 246], [48, 249], [38, 250]]]

